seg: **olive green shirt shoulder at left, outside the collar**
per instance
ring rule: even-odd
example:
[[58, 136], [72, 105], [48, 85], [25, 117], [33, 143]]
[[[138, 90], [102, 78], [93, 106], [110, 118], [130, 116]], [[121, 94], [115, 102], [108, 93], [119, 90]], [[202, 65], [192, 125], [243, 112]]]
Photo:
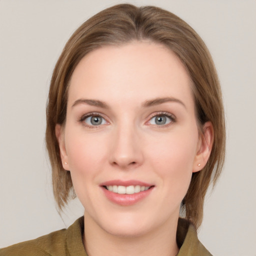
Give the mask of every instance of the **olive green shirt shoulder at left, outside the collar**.
[[66, 229], [51, 232], [33, 240], [19, 242], [11, 246], [1, 248], [0, 256], [48, 256], [65, 255]]

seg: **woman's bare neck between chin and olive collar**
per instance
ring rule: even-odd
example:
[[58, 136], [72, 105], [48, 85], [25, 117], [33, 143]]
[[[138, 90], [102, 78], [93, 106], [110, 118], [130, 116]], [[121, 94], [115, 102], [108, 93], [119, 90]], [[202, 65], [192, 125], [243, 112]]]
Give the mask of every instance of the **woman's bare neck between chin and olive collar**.
[[167, 223], [143, 234], [120, 236], [106, 232], [84, 214], [83, 244], [88, 256], [174, 256], [178, 253], [177, 219], [169, 219]]

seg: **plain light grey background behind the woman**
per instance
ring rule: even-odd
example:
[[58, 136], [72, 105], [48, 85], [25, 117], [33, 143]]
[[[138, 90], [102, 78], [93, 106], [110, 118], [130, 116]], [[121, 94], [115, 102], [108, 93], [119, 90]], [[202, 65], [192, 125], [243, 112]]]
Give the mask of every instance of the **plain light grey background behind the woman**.
[[255, 0], [0, 0], [0, 247], [67, 227], [58, 215], [44, 146], [52, 69], [75, 28], [115, 3], [153, 4], [187, 21], [208, 45], [227, 120], [223, 174], [199, 231], [214, 255], [256, 255]]

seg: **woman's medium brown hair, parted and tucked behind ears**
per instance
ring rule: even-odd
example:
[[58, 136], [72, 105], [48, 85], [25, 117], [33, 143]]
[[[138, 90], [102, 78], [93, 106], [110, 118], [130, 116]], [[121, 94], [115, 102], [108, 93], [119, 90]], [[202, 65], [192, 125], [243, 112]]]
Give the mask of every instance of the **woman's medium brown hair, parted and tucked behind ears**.
[[154, 6], [118, 4], [85, 21], [69, 38], [54, 67], [47, 109], [46, 146], [52, 167], [52, 183], [59, 210], [74, 195], [70, 172], [62, 167], [56, 124], [64, 125], [67, 89], [72, 72], [88, 52], [104, 45], [122, 45], [134, 40], [150, 40], [165, 45], [182, 61], [191, 80], [199, 132], [211, 121], [214, 141], [205, 167], [192, 174], [181, 203], [185, 218], [199, 227], [206, 190], [215, 184], [224, 161], [225, 124], [216, 70], [202, 39], [182, 19]]

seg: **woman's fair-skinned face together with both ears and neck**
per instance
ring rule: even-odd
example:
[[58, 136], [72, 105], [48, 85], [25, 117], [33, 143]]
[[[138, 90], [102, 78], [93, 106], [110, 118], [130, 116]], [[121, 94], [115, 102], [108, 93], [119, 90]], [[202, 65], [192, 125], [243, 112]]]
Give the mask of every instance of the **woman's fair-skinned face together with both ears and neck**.
[[210, 122], [198, 132], [191, 86], [174, 53], [148, 41], [98, 48], [76, 66], [56, 136], [85, 209], [88, 255], [178, 252], [180, 202], [213, 139]]

